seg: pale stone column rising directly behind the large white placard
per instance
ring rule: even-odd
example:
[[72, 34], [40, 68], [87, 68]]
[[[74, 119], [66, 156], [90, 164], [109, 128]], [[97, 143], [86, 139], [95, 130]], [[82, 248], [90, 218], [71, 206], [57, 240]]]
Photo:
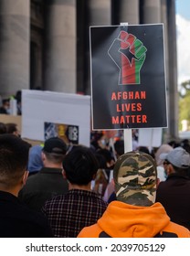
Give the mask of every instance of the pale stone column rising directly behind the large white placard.
[[76, 1], [46, 1], [45, 77], [47, 91], [76, 92]]

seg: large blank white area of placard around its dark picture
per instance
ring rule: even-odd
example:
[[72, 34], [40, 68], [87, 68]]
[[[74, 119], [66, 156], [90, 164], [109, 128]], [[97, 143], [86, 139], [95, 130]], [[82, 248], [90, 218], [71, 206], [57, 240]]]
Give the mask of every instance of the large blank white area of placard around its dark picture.
[[21, 136], [44, 141], [45, 123], [79, 126], [79, 144], [90, 146], [90, 96], [23, 90]]

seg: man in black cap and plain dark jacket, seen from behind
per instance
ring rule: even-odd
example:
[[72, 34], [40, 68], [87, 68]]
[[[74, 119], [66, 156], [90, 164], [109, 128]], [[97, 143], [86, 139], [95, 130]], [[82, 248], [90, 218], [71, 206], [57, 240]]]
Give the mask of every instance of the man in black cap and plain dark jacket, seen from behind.
[[26, 186], [18, 195], [29, 208], [41, 211], [47, 199], [68, 192], [68, 182], [62, 176], [62, 161], [67, 150], [67, 144], [58, 137], [45, 141], [41, 153], [44, 166], [36, 175], [28, 177]]

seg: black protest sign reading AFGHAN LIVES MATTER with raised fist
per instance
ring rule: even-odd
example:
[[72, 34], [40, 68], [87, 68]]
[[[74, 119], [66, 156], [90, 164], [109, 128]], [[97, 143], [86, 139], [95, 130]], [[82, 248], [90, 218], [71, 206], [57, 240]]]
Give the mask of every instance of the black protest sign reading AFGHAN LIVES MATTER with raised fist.
[[90, 27], [92, 129], [167, 127], [164, 27]]

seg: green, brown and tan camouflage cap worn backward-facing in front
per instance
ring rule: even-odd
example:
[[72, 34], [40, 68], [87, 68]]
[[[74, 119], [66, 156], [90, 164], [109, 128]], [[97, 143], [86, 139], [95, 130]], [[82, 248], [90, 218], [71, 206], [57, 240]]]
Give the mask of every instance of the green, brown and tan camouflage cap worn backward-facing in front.
[[116, 197], [136, 206], [151, 206], [155, 202], [156, 164], [151, 155], [128, 152], [121, 155], [113, 169]]

